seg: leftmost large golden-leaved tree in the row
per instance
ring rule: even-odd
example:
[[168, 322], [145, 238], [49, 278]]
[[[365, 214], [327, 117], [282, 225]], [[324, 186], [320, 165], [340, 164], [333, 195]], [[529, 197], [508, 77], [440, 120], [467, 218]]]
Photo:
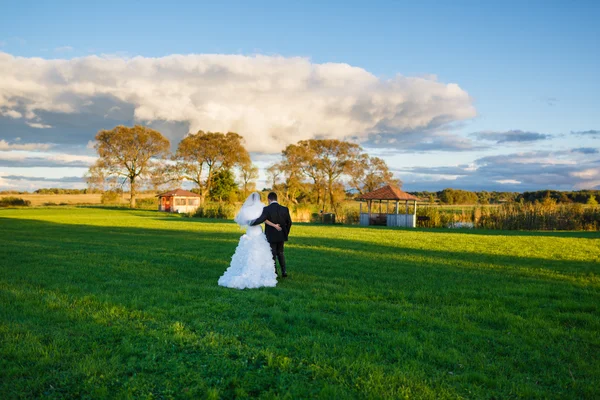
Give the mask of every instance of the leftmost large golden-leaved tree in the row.
[[122, 178], [129, 184], [129, 206], [133, 208], [139, 181], [163, 166], [160, 159], [168, 156], [170, 143], [160, 132], [136, 125], [98, 132], [94, 147], [99, 158], [88, 172], [88, 183]]

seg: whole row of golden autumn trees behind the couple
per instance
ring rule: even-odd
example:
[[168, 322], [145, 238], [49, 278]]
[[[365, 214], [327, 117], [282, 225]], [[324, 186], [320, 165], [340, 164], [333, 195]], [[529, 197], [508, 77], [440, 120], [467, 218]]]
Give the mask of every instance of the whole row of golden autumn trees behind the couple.
[[[237, 133], [199, 131], [185, 137], [170, 152], [170, 142], [148, 127], [117, 126], [96, 135], [97, 162], [86, 174], [92, 190], [128, 186], [130, 205], [135, 207], [138, 191], [194, 182], [202, 201], [207, 197], [227, 199], [238, 185], [245, 196], [255, 188], [258, 168]], [[335, 209], [345, 198], [346, 187], [359, 193], [375, 190], [385, 183], [401, 185], [385, 161], [370, 157], [354, 143], [340, 140], [303, 140], [283, 150], [281, 161], [268, 169], [271, 187], [287, 200], [312, 201]]]

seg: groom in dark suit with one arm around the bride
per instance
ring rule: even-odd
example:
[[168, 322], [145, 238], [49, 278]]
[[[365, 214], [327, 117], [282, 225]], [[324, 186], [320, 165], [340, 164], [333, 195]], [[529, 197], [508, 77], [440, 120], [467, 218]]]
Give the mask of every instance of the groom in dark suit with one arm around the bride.
[[274, 224], [279, 224], [281, 230], [277, 230], [272, 226], [265, 225], [265, 235], [267, 241], [271, 245], [271, 253], [273, 254], [273, 261], [275, 262], [275, 272], [277, 272], [277, 261], [279, 260], [279, 266], [281, 267], [281, 276], [286, 277], [287, 272], [285, 270], [285, 256], [283, 255], [283, 243], [287, 242], [290, 229], [292, 228], [292, 219], [290, 218], [290, 210], [287, 207], [279, 205], [277, 202], [277, 193], [271, 192], [267, 197], [269, 205], [263, 208], [263, 213], [258, 219], [256, 219], [252, 225], [259, 225], [266, 220], [271, 221]]

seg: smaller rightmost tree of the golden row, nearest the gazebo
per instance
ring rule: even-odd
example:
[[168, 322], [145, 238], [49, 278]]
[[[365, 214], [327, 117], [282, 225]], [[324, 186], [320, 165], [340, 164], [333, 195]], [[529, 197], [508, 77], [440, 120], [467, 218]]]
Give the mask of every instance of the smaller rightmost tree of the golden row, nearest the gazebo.
[[385, 185], [402, 187], [402, 181], [394, 178], [384, 160], [369, 157], [367, 154], [361, 154], [358, 160], [350, 165], [348, 175], [350, 186], [360, 194], [372, 192]]

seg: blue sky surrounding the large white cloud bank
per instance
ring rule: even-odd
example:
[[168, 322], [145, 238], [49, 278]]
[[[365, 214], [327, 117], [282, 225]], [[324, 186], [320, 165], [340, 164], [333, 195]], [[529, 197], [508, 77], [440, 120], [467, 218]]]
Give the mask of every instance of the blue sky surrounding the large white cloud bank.
[[[29, 61], [35, 57], [73, 60], [94, 55], [125, 60], [141, 56], [148, 63], [150, 59], [160, 60], [174, 54], [303, 57], [311, 65], [348, 64], [362, 69], [383, 82], [380, 86], [397, 75], [435, 76], [437, 82], [457, 84], [468, 94], [475, 110], [473, 115], [452, 111], [450, 120], [435, 129], [431, 124], [417, 124], [410, 130], [406, 126], [415, 125], [410, 121], [388, 127], [387, 137], [395, 135], [396, 143], [406, 144], [395, 151], [384, 151], [371, 139], [363, 142], [370, 152], [384, 157], [398, 171], [407, 190], [443, 187], [571, 190], [600, 186], [597, 173], [600, 157], [593, 151], [600, 147], [594, 133], [600, 130], [598, 1], [87, 3], [2, 4], [0, 52], [12, 57], [8, 62], [13, 64], [18, 62], [15, 57]], [[35, 63], [26, 64], [27, 68], [36, 68]], [[102, 77], [97, 79], [100, 81]], [[328, 79], [333, 77], [328, 75]], [[2, 85], [0, 80], [0, 95]], [[8, 83], [4, 85], [8, 92]], [[395, 94], [401, 96], [404, 89], [397, 89]], [[425, 90], [422, 86], [409, 89]], [[17, 97], [16, 89], [10, 90]], [[131, 102], [132, 110], [142, 107]], [[395, 106], [401, 107], [399, 104]], [[446, 115], [453, 104], [453, 99], [440, 104], [439, 115], [433, 118]], [[86, 119], [76, 118], [83, 115], [81, 109], [65, 113], [40, 105], [35, 118], [32, 115], [27, 121], [26, 117], [14, 117], [16, 113], [26, 114], [18, 107], [23, 104], [16, 104], [14, 99], [9, 103], [5, 98], [5, 104], [0, 103], [0, 111], [4, 113], [0, 115], [0, 140], [5, 143], [4, 157], [0, 155], [0, 189], [48, 186], [32, 179], [48, 173], [40, 175], [42, 171], [36, 169], [39, 167], [16, 162], [20, 160], [18, 155], [35, 158], [60, 153], [62, 159], [68, 159], [67, 155], [93, 156], [84, 137], [87, 135], [91, 140], [102, 121], [90, 117], [94, 123], [86, 126]], [[109, 109], [114, 107], [128, 109], [126, 104], [112, 105]], [[236, 110], [239, 112], [240, 108]], [[12, 116], [8, 116], [9, 112]], [[108, 114], [102, 112], [102, 115], [106, 120]], [[187, 133], [179, 132], [184, 128], [177, 127], [178, 123], [195, 121], [195, 117], [161, 118], [171, 119], [168, 129], [173, 130], [172, 140]], [[137, 117], [124, 114], [108, 118], [107, 123], [112, 121], [134, 122]], [[310, 126], [315, 132], [306, 134], [322, 133], [318, 132], [321, 127]], [[60, 139], [61, 132], [75, 135], [75, 130], [79, 140]], [[369, 132], [373, 134], [372, 129]], [[481, 132], [488, 132], [490, 137], [507, 133], [512, 139], [493, 141], [473, 135]], [[536, 133], [542, 139], [525, 140], [532, 136], [518, 132]], [[444, 148], [444, 143], [456, 138], [470, 141], [471, 148], [460, 152]], [[419, 140], [429, 144], [441, 142], [427, 147]], [[26, 142], [38, 144], [34, 152], [40, 154], [32, 155], [27, 152], [31, 149], [16, 146]], [[44, 148], [44, 143], [52, 147]], [[491, 157], [499, 156], [505, 156], [502, 162], [508, 163], [507, 168], [492, 168], [500, 158]], [[257, 157], [260, 166], [270, 161], [266, 155]], [[577, 169], [579, 164], [584, 167]], [[523, 165], [532, 167], [532, 176], [517, 173], [524, 169]], [[439, 168], [457, 166], [462, 166], [464, 175], [439, 173]], [[558, 166], [563, 169], [557, 169]], [[553, 172], [548, 179], [540, 180], [534, 167]], [[81, 172], [81, 167], [77, 168], [56, 166], [49, 174], [56, 179], [61, 174], [69, 177]], [[493, 173], [489, 173], [490, 169]], [[71, 179], [64, 185], [74, 183]]]

